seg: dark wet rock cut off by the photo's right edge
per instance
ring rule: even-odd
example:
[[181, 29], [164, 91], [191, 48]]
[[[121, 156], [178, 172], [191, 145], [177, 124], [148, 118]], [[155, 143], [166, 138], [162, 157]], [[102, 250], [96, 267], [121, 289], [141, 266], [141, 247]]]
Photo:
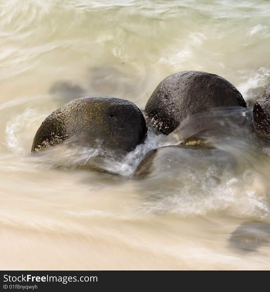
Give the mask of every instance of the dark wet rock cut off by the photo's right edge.
[[270, 86], [254, 104], [253, 124], [257, 132], [270, 138]]

